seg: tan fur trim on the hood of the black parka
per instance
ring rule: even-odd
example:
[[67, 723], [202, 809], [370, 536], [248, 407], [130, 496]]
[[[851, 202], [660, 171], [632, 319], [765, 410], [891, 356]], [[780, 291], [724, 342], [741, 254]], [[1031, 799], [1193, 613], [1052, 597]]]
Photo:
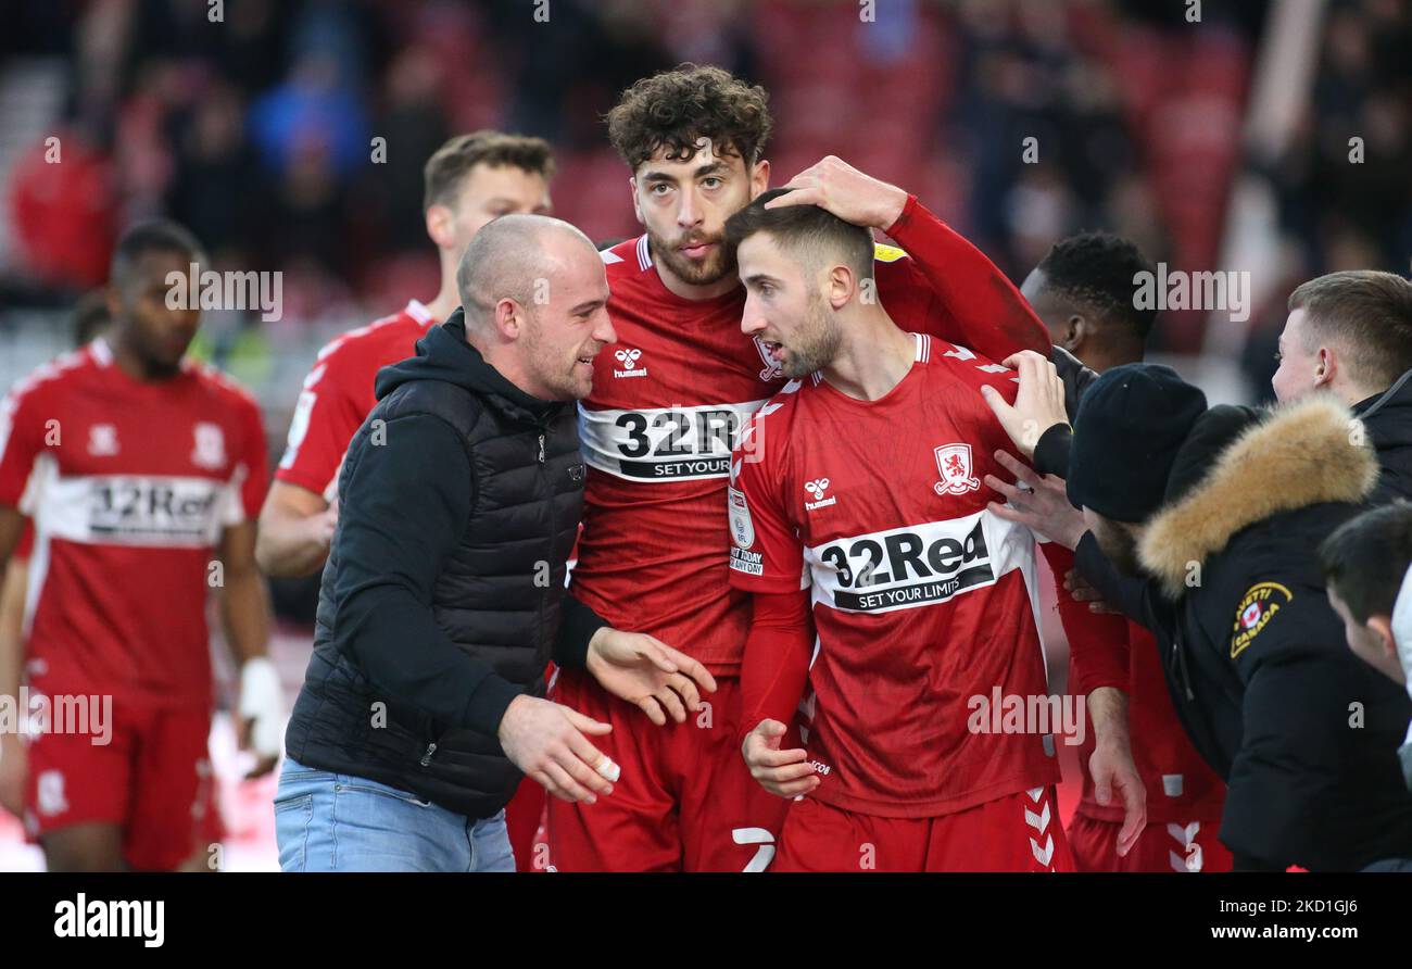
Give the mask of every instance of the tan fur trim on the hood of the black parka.
[[1189, 564], [1220, 552], [1240, 530], [1322, 501], [1361, 501], [1378, 482], [1378, 460], [1356, 429], [1353, 412], [1322, 394], [1268, 411], [1142, 528], [1142, 568], [1178, 599]]

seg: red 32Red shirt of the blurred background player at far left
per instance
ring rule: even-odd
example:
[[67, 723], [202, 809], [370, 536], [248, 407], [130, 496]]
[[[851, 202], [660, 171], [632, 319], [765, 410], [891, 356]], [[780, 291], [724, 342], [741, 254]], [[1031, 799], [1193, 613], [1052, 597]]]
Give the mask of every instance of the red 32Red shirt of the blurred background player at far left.
[[133, 380], [100, 338], [0, 407], [0, 504], [34, 520], [31, 682], [210, 702], [206, 593], [222, 531], [260, 513], [260, 407], [216, 370]]

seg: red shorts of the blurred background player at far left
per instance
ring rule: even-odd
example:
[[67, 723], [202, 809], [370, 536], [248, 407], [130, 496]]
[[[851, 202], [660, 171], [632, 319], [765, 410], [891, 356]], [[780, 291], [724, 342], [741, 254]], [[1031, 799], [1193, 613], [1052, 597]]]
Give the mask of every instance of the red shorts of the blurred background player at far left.
[[206, 740], [210, 709], [117, 709], [110, 743], [30, 739], [25, 826], [34, 839], [82, 824], [123, 828], [123, 859], [169, 872], [222, 838]]

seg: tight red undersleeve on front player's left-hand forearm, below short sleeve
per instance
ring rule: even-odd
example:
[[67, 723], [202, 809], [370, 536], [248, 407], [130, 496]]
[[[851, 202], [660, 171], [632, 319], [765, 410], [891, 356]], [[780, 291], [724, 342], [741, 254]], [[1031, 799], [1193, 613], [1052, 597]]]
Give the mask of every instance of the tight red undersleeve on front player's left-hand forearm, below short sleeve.
[[761, 720], [789, 725], [809, 679], [813, 644], [808, 592], [757, 593], [753, 605], [754, 617], [740, 668], [744, 716], [737, 743]]

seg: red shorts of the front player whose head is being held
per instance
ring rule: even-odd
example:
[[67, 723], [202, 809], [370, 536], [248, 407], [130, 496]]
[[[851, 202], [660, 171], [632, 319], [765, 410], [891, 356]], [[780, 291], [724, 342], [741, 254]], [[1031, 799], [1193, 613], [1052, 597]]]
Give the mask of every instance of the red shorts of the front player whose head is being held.
[[789, 805], [771, 872], [1072, 872], [1053, 808], [1036, 787], [939, 818], [880, 818], [806, 797]]

